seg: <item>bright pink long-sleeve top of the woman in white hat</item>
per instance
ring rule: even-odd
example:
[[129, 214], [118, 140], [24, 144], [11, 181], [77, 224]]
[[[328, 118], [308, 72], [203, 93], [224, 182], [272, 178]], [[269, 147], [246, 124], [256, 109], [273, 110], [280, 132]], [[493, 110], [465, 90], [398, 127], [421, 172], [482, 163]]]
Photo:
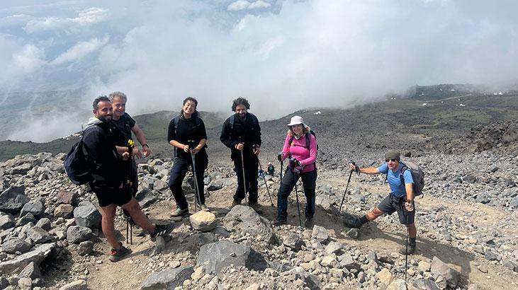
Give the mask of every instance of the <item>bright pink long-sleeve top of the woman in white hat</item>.
[[[310, 134], [309, 132], [306, 134]], [[305, 146], [305, 135], [299, 139], [293, 138], [291, 144], [291, 136], [286, 135], [286, 141], [284, 141], [283, 147], [283, 160], [288, 158], [291, 153], [291, 158], [296, 158], [300, 161], [300, 166], [303, 168], [300, 170], [301, 173], [307, 173], [315, 170], [315, 162], [317, 161], [317, 139], [313, 134], [310, 134], [310, 148]]]

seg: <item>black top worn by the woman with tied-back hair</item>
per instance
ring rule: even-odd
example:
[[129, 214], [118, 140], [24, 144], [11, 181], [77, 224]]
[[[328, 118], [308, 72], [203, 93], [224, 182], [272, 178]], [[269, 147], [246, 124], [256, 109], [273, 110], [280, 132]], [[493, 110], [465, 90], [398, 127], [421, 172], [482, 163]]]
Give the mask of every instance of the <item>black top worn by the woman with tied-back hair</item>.
[[[175, 127], [175, 121], [177, 120], [178, 126]], [[171, 140], [179, 141], [181, 144], [187, 144], [188, 140], [193, 140], [195, 146], [200, 143], [201, 139], [207, 139], [207, 132], [205, 131], [205, 123], [200, 117], [191, 117], [190, 119], [184, 119], [179, 116], [169, 122], [169, 129], [167, 130], [167, 142]], [[186, 156], [184, 150], [175, 147], [176, 156]], [[205, 151], [205, 148], [201, 149]], [[203, 152], [202, 152], [203, 153]]]

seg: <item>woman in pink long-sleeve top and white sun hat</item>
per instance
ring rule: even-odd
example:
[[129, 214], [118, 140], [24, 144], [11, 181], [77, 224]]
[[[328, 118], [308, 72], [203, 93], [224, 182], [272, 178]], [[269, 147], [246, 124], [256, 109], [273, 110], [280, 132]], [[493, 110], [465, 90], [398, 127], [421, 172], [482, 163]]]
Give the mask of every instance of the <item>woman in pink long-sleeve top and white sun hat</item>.
[[304, 123], [300, 116], [291, 117], [288, 127], [283, 151], [278, 154], [278, 160], [283, 161], [288, 158], [289, 162], [281, 181], [281, 189], [277, 195], [277, 219], [272, 224], [276, 226], [286, 224], [288, 195], [293, 190], [298, 178], [302, 178], [306, 197], [304, 226], [310, 227], [313, 224], [313, 215], [315, 214], [317, 140], [310, 133], [310, 127]]

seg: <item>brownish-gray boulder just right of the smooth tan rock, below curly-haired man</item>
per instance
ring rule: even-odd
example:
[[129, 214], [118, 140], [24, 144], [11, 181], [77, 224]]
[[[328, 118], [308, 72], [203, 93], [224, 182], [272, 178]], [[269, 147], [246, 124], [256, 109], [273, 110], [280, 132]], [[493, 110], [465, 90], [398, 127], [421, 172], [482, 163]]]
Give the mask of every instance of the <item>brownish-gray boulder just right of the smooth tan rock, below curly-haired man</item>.
[[233, 207], [223, 219], [223, 224], [230, 231], [249, 233], [250, 236], [259, 237], [269, 243], [276, 242], [274, 228], [270, 222], [259, 216], [252, 207], [243, 205]]

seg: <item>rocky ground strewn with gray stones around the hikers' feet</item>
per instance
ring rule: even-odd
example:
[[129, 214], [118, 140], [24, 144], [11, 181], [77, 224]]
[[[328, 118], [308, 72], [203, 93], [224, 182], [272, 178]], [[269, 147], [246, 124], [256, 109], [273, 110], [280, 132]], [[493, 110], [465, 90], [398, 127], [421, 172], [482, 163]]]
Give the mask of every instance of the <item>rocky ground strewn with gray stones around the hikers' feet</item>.
[[[281, 146], [270, 132], [276, 121], [271, 122], [264, 126], [263, 165]], [[516, 143], [494, 141], [516, 138], [516, 125], [492, 126], [497, 129], [491, 132], [511, 134], [492, 134], [486, 140], [491, 148], [483, 150], [476, 144], [489, 127], [459, 139], [465, 141], [398, 135], [410, 141], [397, 148], [422, 166], [427, 182], [424, 197], [416, 199], [417, 253], [408, 257], [409, 289], [517, 288]], [[342, 212], [337, 212], [348, 161], [377, 166], [398, 133], [386, 131], [373, 140], [372, 133], [356, 131], [354, 138], [339, 134], [342, 139], [330, 139], [330, 132], [315, 127], [320, 150], [314, 226], [299, 226], [293, 193], [288, 224], [271, 226], [276, 209], [264, 182], [260, 214], [246, 206], [230, 209], [235, 173], [227, 150], [213, 142], [205, 176], [212, 213], [171, 220], [171, 159], [139, 164], [140, 204], [153, 221], [174, 222], [175, 229], [170, 238], [156, 242], [133, 236], [128, 245], [133, 254], [116, 263], [108, 260], [95, 195], [67, 180], [64, 154], [17, 156], [0, 163], [0, 289], [405, 289], [405, 256], [398, 253], [405, 228], [397, 215], [359, 231], [342, 224], [342, 214], [363, 214], [385, 197], [384, 176], [352, 175]], [[276, 204], [278, 176], [266, 179]], [[188, 176], [184, 189], [192, 201], [191, 181]], [[303, 209], [302, 192], [299, 199]], [[116, 228], [125, 240], [121, 216]]]

